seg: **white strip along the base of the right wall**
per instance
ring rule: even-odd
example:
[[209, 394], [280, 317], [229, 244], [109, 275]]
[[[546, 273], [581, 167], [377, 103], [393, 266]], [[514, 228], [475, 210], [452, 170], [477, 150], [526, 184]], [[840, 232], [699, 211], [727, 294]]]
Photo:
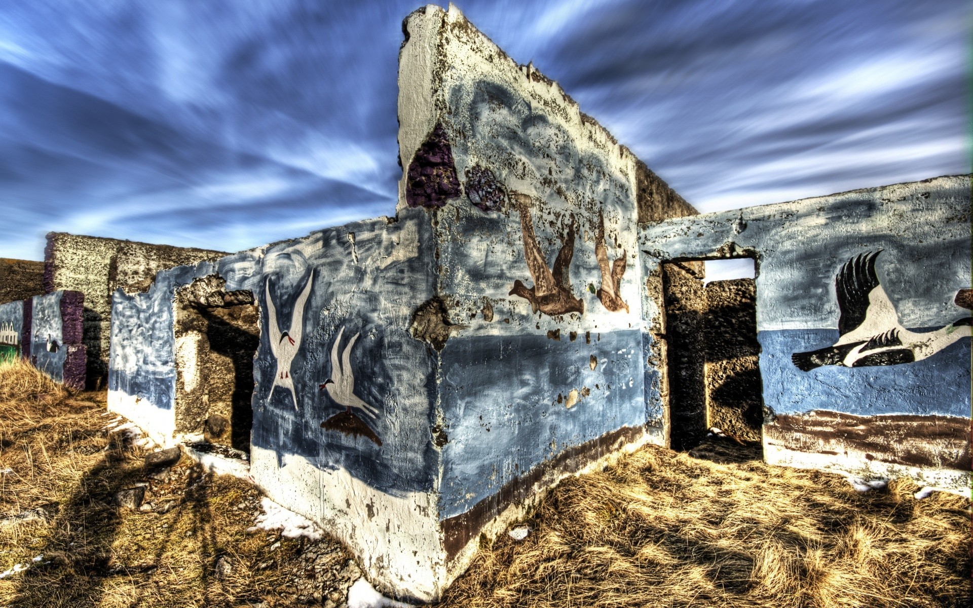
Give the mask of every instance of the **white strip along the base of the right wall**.
[[861, 480], [910, 478], [920, 485], [936, 487], [966, 498], [970, 497], [970, 486], [973, 482], [973, 475], [969, 471], [929, 469], [868, 460], [865, 458], [865, 452], [853, 449], [848, 449], [847, 454], [838, 455], [798, 451], [768, 443], [767, 438], [764, 438], [764, 460], [768, 464], [796, 469], [817, 469]]

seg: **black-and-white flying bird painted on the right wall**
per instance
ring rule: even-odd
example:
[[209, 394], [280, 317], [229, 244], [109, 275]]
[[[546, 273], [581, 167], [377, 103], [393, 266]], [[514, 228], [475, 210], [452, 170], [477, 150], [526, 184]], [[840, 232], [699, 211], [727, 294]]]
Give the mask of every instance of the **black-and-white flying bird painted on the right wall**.
[[[926, 359], [950, 344], [971, 335], [970, 317], [932, 332], [913, 332], [902, 327], [895, 306], [888, 300], [875, 262], [882, 250], [859, 254], [848, 260], [835, 277], [841, 316], [840, 338], [833, 345], [791, 355], [794, 365], [810, 372], [826, 365], [847, 368], [900, 365]], [[961, 290], [955, 303], [970, 299]], [[964, 306], [968, 307], [968, 306]]]

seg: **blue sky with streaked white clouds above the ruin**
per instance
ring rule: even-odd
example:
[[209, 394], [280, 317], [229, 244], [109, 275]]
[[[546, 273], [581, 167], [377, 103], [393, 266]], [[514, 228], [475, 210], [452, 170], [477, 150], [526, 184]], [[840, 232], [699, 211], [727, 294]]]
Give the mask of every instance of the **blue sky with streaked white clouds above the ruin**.
[[[0, 257], [236, 251], [395, 208], [415, 2], [0, 6]], [[969, 3], [470, 1], [702, 211], [969, 172]]]

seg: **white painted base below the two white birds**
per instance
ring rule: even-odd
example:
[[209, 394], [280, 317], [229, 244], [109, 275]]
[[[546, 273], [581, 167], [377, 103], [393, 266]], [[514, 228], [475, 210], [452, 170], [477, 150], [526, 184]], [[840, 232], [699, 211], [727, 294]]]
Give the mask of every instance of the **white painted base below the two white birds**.
[[393, 496], [303, 456], [252, 447], [250, 474], [274, 502], [315, 521], [347, 545], [379, 589], [431, 601], [445, 589], [435, 492]]

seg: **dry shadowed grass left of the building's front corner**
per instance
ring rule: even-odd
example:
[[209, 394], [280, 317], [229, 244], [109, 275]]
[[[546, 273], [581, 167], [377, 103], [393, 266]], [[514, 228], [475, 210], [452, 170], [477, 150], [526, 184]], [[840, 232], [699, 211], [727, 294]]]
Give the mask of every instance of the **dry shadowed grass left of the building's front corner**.
[[[0, 368], [0, 606], [292, 606], [343, 601], [358, 570], [340, 545], [248, 532], [262, 513], [249, 483], [183, 458], [131, 511], [116, 492], [149, 482], [143, 452], [105, 430], [104, 393], [72, 394], [29, 365]], [[172, 501], [171, 503], [169, 501]], [[11, 522], [10, 516], [46, 517]], [[278, 544], [279, 541], [279, 544]], [[226, 559], [231, 572], [217, 576]]]

